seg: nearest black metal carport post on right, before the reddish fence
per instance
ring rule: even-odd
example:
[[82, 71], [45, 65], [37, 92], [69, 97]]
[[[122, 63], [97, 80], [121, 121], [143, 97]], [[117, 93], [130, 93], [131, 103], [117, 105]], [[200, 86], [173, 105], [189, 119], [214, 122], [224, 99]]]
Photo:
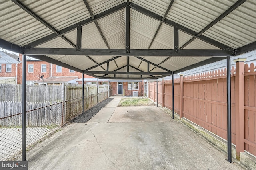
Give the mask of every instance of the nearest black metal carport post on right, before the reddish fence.
[[230, 75], [230, 56], [227, 57], [227, 131], [228, 131], [228, 162], [232, 162], [231, 153], [231, 75]]

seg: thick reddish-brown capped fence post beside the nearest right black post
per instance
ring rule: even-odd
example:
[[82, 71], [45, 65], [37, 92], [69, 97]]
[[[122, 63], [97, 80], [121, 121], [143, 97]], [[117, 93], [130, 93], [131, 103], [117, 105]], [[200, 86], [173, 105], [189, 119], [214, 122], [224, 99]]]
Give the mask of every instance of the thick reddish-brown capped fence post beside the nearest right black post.
[[234, 60], [236, 63], [235, 77], [235, 123], [236, 123], [236, 159], [244, 152], [244, 61], [246, 58]]

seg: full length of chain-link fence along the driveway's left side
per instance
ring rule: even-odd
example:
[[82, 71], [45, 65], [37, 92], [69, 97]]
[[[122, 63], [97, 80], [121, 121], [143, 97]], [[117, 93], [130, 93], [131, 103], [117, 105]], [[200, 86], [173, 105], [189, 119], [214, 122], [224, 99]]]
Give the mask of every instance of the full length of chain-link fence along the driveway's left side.
[[[99, 93], [98, 101], [108, 98], [108, 91]], [[97, 104], [97, 94], [84, 97], [84, 111]], [[1, 103], [0, 103], [1, 105]], [[14, 113], [18, 105], [0, 107], [0, 160], [16, 160], [22, 149], [22, 113]], [[82, 98], [63, 102], [26, 103], [26, 150], [58, 131], [62, 125], [82, 114]]]

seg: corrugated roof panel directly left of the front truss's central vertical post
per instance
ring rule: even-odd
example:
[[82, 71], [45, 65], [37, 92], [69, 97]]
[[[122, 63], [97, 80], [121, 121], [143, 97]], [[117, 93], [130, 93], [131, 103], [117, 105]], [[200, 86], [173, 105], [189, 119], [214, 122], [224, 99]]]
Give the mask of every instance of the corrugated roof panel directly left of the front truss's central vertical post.
[[125, 49], [125, 10], [97, 21], [110, 49]]

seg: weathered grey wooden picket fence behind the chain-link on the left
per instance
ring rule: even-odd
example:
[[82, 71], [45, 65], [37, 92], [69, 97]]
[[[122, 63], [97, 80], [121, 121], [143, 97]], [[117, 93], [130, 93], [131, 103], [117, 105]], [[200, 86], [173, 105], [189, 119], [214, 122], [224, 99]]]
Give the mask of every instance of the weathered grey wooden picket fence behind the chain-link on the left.
[[[1, 84], [0, 84], [1, 85]], [[20, 94], [20, 84], [4, 84], [1, 86], [1, 95], [5, 97], [0, 97], [2, 99], [9, 98], [9, 99], [18, 99]], [[77, 115], [82, 113], [82, 84], [63, 84], [62, 86], [31, 86], [27, 85], [27, 102], [26, 102], [26, 110], [34, 110], [36, 108], [41, 107], [51, 107], [50, 111], [42, 113], [34, 113], [33, 115], [28, 115], [29, 117], [33, 117], [33, 120], [36, 122], [27, 120], [28, 125], [33, 126], [40, 126], [40, 122], [44, 121], [44, 125], [48, 125], [49, 123], [54, 123], [54, 121], [46, 120], [47, 117], [61, 117], [64, 115], [64, 119], [62, 121], [69, 121], [74, 119]], [[33, 88], [35, 92], [33, 92]], [[13, 91], [12, 95], [7, 97], [7, 94]], [[3, 92], [2, 92], [3, 91]], [[36, 95], [36, 92], [38, 95]], [[53, 97], [56, 94], [55, 97]], [[42, 96], [43, 95], [43, 96]], [[37, 97], [38, 96], [38, 97]], [[52, 97], [48, 97], [52, 96]], [[85, 85], [84, 86], [84, 108], [85, 111], [90, 107], [93, 107], [97, 104], [97, 86], [94, 85]], [[29, 102], [30, 100], [42, 100], [42, 102]], [[55, 99], [54, 101], [45, 101], [48, 99]], [[108, 86], [106, 85], [99, 85], [99, 102], [108, 98]], [[66, 99], [66, 100], [62, 100]], [[58, 106], [58, 108], [54, 108], [54, 104], [64, 101], [63, 106]], [[62, 111], [63, 109], [63, 111]], [[45, 109], [44, 109], [45, 110]], [[22, 111], [22, 102], [21, 101], [0, 101], [0, 125], [2, 126], [20, 126], [21, 125], [21, 113]], [[58, 115], [55, 114], [55, 111], [58, 112]], [[13, 115], [13, 116], [12, 116]], [[15, 121], [13, 121], [13, 118]], [[42, 119], [42, 120], [40, 120]], [[3, 121], [4, 120], [4, 121]], [[7, 121], [8, 120], [8, 121]], [[4, 123], [3, 123], [4, 122]]]

